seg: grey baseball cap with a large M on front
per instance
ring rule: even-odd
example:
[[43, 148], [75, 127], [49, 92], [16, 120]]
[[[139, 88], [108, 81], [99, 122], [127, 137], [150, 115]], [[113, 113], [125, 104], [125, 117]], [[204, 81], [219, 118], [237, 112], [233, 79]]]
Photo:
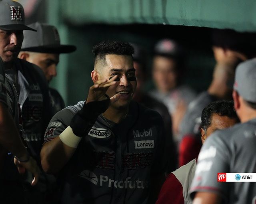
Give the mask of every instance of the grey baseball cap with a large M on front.
[[34, 30], [25, 26], [24, 9], [21, 4], [11, 0], [0, 0], [1, 30]]

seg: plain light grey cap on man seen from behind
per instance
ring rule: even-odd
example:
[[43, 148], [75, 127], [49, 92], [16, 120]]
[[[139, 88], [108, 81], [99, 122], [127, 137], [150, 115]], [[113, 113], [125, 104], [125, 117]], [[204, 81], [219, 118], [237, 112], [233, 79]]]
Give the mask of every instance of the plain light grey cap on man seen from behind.
[[256, 103], [256, 58], [238, 65], [234, 89], [244, 100]]

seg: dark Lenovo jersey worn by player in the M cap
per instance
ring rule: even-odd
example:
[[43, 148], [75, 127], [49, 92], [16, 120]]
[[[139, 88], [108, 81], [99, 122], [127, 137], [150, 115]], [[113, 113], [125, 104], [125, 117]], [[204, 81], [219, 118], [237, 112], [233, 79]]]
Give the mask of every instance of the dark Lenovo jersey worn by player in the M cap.
[[32, 63], [16, 59], [14, 67], [16, 75], [8, 73], [8, 76], [19, 90], [26, 142], [32, 156], [39, 161], [44, 132], [53, 116], [48, 83], [42, 70]]

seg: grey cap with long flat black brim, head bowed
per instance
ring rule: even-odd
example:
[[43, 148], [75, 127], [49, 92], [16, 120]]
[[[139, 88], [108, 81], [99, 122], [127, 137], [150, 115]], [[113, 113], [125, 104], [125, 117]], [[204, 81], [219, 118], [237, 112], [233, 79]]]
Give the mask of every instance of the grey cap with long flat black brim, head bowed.
[[24, 40], [21, 51], [42, 53], [70, 53], [76, 50], [76, 46], [61, 45], [58, 30], [51, 25], [39, 22], [28, 25], [37, 30], [34, 32], [24, 31]]

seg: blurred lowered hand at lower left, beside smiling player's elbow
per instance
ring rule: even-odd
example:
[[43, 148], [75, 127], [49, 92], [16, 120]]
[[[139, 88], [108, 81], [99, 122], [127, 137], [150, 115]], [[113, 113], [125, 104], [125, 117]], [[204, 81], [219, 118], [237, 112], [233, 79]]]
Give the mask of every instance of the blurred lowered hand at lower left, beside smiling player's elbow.
[[21, 162], [18, 159], [14, 158], [14, 164], [18, 166], [18, 172], [24, 174], [25, 170], [30, 171], [34, 179], [31, 182], [31, 185], [34, 186], [37, 184], [40, 174], [40, 169], [36, 164], [36, 161], [30, 156], [30, 159], [27, 162]]

